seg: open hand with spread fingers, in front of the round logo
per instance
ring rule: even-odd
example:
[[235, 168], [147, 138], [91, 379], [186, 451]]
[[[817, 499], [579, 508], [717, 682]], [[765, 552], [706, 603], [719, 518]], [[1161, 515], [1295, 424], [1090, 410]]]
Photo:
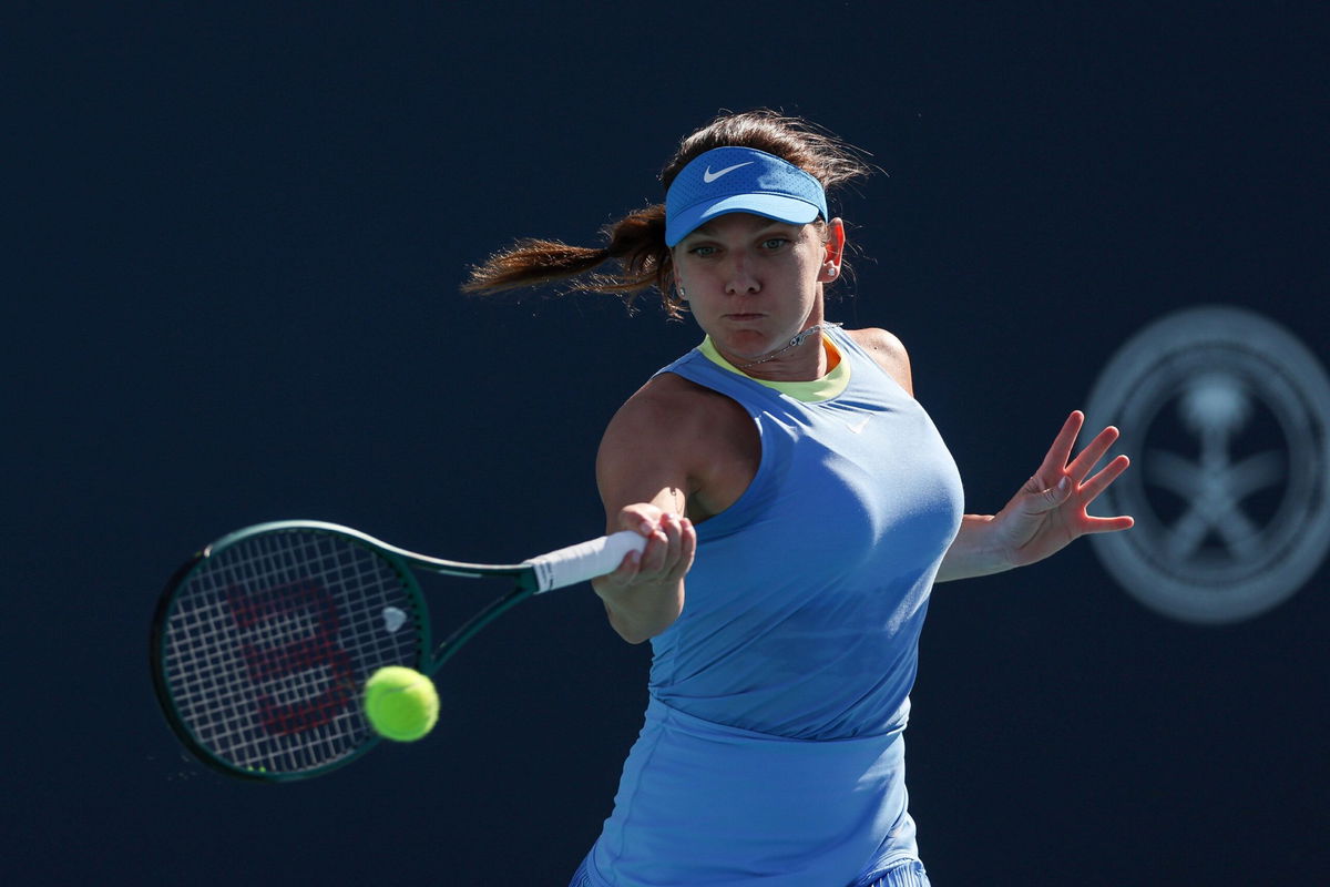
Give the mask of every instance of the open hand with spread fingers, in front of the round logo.
[[1091, 476], [1091, 471], [1117, 440], [1117, 428], [1099, 432], [1072, 459], [1076, 436], [1085, 415], [1072, 412], [1057, 432], [1039, 471], [988, 524], [990, 551], [1009, 567], [1024, 567], [1061, 551], [1087, 533], [1112, 533], [1134, 521], [1125, 516], [1092, 517], [1085, 508], [1127, 471], [1127, 456], [1117, 456]]

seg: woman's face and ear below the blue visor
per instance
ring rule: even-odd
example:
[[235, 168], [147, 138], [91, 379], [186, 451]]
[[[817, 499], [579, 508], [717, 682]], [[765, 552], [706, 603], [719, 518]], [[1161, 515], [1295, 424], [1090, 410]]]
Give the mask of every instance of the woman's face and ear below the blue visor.
[[822, 285], [841, 270], [843, 231], [841, 219], [790, 225], [720, 215], [674, 246], [676, 279], [698, 326], [742, 366], [823, 320]]

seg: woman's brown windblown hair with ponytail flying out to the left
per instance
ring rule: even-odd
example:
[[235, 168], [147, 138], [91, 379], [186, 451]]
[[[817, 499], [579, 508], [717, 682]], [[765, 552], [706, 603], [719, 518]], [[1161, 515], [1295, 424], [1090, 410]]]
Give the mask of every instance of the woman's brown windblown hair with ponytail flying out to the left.
[[[713, 148], [730, 146], [754, 148], [794, 164], [822, 182], [829, 195], [871, 172], [861, 160], [862, 152], [814, 124], [773, 110], [750, 110], [722, 114], [685, 137], [661, 170], [665, 190], [693, 158]], [[608, 243], [600, 249], [559, 241], [517, 241], [472, 267], [462, 289], [467, 293], [497, 293], [576, 278], [572, 281], [573, 291], [616, 294], [632, 305], [642, 290], [656, 287], [665, 313], [672, 318], [681, 317], [681, 305], [672, 297], [674, 274], [670, 250], [665, 246], [665, 205], [634, 210], [606, 225], [601, 234]], [[613, 270], [598, 270], [608, 262]]]

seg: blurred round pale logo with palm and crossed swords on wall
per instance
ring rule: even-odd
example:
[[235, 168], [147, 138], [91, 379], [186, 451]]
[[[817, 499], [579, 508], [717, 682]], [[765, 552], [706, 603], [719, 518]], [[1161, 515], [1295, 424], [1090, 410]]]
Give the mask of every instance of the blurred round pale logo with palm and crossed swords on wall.
[[1115, 424], [1132, 468], [1096, 513], [1108, 572], [1188, 622], [1252, 618], [1287, 600], [1330, 548], [1330, 379], [1287, 328], [1194, 307], [1142, 328], [1104, 367], [1087, 428]]

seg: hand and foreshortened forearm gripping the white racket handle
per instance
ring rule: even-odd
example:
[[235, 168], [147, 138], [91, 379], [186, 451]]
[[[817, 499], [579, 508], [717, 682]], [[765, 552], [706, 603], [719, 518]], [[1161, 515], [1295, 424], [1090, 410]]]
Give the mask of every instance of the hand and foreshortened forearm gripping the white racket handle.
[[641, 533], [646, 548], [625, 555], [618, 569], [593, 578], [592, 588], [605, 601], [614, 630], [629, 644], [641, 644], [684, 612], [684, 577], [693, 565], [697, 531], [688, 517], [652, 503], [625, 505], [612, 529]]

